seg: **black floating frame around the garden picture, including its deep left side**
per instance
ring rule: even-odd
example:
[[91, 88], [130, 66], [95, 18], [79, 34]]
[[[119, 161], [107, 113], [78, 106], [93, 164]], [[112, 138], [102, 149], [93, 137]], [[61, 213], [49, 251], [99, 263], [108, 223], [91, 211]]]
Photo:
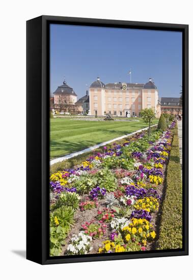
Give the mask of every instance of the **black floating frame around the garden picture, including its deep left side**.
[[[49, 257], [49, 24], [51, 23], [182, 32], [182, 249], [100, 254], [100, 256]], [[40, 16], [26, 22], [26, 31], [26, 258], [39, 264], [59, 264], [188, 255], [188, 25]]]

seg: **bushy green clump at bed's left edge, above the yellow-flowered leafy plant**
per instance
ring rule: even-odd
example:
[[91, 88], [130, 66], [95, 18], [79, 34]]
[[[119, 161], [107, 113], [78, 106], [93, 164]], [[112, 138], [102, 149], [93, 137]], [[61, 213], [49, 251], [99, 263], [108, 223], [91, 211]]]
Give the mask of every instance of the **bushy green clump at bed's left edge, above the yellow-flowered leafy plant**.
[[59, 194], [57, 202], [51, 206], [51, 210], [60, 208], [62, 206], [70, 206], [76, 210], [79, 206], [79, 195], [75, 192], [62, 192]]

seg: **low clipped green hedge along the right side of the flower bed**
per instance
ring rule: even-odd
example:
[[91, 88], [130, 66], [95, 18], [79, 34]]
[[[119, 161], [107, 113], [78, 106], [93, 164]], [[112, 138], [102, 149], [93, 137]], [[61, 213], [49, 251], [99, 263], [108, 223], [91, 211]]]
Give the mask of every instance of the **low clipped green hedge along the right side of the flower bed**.
[[167, 169], [166, 196], [162, 205], [156, 249], [182, 248], [182, 180], [177, 123]]

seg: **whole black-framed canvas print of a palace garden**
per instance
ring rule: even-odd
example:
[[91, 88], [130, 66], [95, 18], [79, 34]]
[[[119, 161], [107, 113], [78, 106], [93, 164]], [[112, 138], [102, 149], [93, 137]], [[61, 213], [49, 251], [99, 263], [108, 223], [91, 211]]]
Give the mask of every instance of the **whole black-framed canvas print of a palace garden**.
[[27, 21], [27, 259], [188, 255], [188, 25]]

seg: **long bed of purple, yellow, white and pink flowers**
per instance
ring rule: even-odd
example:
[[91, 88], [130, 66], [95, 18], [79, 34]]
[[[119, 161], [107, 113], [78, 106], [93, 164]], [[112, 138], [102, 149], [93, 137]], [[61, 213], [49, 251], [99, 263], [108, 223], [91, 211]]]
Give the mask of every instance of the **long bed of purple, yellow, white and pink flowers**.
[[50, 255], [151, 250], [172, 138], [143, 132], [52, 173]]

